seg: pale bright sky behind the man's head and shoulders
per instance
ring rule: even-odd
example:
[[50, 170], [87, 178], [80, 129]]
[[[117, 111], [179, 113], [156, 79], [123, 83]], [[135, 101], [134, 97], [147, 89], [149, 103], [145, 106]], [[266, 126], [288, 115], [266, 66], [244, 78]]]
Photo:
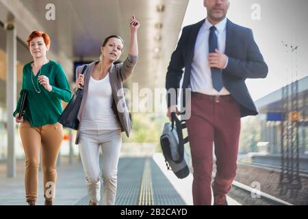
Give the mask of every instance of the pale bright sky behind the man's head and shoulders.
[[[255, 12], [259, 12], [257, 19], [252, 18]], [[190, 0], [182, 26], [197, 23], [205, 16], [203, 0]], [[253, 29], [255, 41], [268, 64], [266, 79], [246, 80], [254, 100], [308, 76], [307, 0], [230, 0], [227, 17], [233, 23]], [[298, 46], [293, 53], [291, 45]]]

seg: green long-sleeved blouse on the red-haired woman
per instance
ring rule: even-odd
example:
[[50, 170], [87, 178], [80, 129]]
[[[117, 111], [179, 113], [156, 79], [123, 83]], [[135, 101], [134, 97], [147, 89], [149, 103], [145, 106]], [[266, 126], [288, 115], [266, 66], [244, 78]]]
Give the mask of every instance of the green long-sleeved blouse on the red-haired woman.
[[[49, 84], [53, 88], [51, 92], [40, 85], [38, 82], [39, 75], [45, 75], [49, 78]], [[29, 121], [32, 127], [57, 123], [57, 119], [62, 114], [61, 100], [68, 102], [71, 96], [64, 70], [59, 63], [53, 60], [44, 64], [36, 76], [32, 73], [31, 62], [25, 64], [23, 66], [21, 96], [23, 90], [28, 92], [24, 120]], [[14, 117], [21, 107], [21, 96], [18, 99]]]

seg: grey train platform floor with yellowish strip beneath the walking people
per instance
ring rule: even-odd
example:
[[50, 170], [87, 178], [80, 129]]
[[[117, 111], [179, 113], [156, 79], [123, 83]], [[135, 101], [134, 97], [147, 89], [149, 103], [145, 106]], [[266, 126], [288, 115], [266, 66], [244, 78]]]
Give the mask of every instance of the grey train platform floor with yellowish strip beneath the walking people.
[[[24, 168], [24, 162], [18, 161], [16, 177], [8, 178], [5, 164], [0, 164], [0, 205], [27, 205]], [[80, 160], [76, 159], [73, 164], [62, 162], [57, 168], [57, 177], [54, 205], [88, 205]], [[229, 197], [228, 203], [240, 205]], [[43, 204], [40, 171], [37, 205]], [[99, 204], [102, 205], [101, 202]], [[120, 157], [116, 205], [192, 205], [192, 174], [185, 179], [177, 179], [172, 171], [166, 169], [162, 153], [147, 157]]]

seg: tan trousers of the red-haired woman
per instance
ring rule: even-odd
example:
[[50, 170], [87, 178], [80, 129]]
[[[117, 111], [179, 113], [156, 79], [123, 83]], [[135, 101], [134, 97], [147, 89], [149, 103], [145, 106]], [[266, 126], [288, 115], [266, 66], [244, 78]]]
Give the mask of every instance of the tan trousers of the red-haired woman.
[[27, 201], [38, 198], [38, 166], [40, 151], [44, 177], [44, 198], [52, 201], [55, 196], [57, 155], [63, 140], [63, 128], [60, 123], [31, 127], [28, 121], [21, 124], [19, 130], [25, 151], [25, 193]]

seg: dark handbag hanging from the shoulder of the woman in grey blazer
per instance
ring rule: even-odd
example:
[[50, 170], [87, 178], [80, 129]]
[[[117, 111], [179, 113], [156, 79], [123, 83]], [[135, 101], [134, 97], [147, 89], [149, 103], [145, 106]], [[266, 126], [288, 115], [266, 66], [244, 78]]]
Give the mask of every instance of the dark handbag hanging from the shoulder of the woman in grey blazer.
[[[88, 65], [85, 65], [82, 69], [81, 74], [84, 74]], [[57, 120], [61, 123], [64, 127], [70, 129], [78, 129], [79, 120], [77, 118], [79, 108], [82, 101], [82, 96], [84, 95], [84, 88], [78, 88], [75, 94], [73, 95], [72, 99], [66, 105], [64, 111], [62, 112], [60, 118]]]

